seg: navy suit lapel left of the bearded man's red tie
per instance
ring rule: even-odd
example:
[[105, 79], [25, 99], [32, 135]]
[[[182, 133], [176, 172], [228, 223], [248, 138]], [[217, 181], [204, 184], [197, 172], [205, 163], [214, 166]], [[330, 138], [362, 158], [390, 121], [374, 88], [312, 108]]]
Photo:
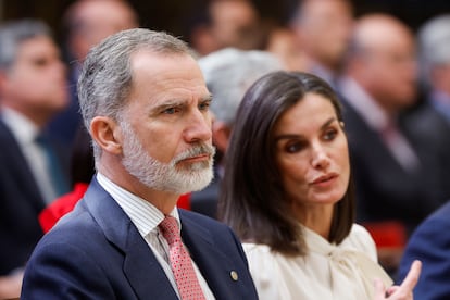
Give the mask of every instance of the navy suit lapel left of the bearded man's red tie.
[[122, 208], [97, 179], [85, 195], [86, 204], [108, 240], [124, 254], [124, 274], [141, 299], [177, 299], [153, 252]]

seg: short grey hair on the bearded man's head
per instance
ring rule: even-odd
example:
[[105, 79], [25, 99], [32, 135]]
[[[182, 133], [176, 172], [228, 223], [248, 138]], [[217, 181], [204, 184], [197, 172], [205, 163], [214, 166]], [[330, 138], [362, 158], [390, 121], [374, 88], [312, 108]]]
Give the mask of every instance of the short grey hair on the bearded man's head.
[[[121, 122], [133, 84], [130, 58], [140, 50], [192, 57], [183, 40], [163, 32], [133, 28], [105, 38], [89, 51], [78, 79], [79, 105], [88, 130], [98, 115]], [[101, 149], [96, 142], [92, 147], [97, 161]]]

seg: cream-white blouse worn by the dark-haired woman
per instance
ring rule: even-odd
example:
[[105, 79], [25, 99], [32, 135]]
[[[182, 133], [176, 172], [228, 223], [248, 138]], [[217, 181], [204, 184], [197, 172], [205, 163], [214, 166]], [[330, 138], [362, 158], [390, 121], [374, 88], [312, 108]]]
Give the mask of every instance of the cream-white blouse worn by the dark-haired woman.
[[354, 224], [338, 246], [303, 227], [308, 252], [285, 257], [266, 245], [243, 243], [250, 272], [261, 300], [361, 300], [374, 299], [374, 279], [385, 286], [391, 278], [379, 266], [375, 242]]

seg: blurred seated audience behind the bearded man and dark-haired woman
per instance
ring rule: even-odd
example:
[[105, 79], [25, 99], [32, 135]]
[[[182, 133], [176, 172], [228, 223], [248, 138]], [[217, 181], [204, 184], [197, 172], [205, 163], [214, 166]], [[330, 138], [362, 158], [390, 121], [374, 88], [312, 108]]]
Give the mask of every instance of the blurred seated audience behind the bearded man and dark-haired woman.
[[[272, 71], [312, 73], [339, 96], [357, 223], [396, 278], [411, 235], [450, 199], [450, 14], [413, 32], [386, 13], [355, 17], [347, 0], [299, 1], [283, 25], [249, 0], [210, 0], [197, 13], [183, 38], [214, 98], [215, 176], [178, 205], [216, 218], [243, 93]], [[76, 91], [84, 58], [145, 24], [121, 0], [75, 1], [61, 22], [63, 45], [39, 20], [0, 24], [0, 298], [18, 296], [35, 245], [95, 173]]]

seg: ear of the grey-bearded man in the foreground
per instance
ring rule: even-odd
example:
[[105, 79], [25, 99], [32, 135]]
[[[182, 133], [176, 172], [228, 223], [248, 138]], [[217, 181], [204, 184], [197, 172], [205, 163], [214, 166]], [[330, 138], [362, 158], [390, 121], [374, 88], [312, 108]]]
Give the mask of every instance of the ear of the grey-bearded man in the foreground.
[[90, 133], [103, 151], [122, 153], [123, 135], [117, 122], [108, 116], [96, 116], [90, 122]]

